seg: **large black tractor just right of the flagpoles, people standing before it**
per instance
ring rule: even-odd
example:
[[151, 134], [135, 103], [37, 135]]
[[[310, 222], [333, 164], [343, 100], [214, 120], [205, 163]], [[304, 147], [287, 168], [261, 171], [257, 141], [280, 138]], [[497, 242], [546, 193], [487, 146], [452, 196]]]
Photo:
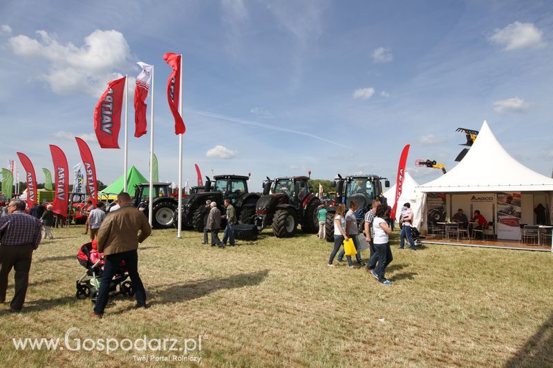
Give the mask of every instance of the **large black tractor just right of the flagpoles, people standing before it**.
[[[215, 201], [221, 213], [225, 213], [223, 200], [229, 199], [236, 210], [238, 223], [253, 224], [255, 204], [259, 193], [250, 193], [247, 189], [249, 176], [215, 175], [214, 182], [209, 177], [203, 191], [191, 193], [182, 200], [182, 224], [196, 231], [203, 231], [203, 210], [207, 200]], [[200, 188], [201, 190], [201, 188]], [[176, 215], [176, 213], [175, 213]], [[175, 217], [176, 224], [176, 217]]]

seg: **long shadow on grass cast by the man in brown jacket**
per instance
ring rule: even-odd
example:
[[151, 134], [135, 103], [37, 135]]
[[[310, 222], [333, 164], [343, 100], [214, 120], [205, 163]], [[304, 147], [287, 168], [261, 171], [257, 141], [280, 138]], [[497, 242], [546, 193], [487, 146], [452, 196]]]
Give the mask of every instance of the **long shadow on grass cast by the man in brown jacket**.
[[264, 269], [263, 271], [241, 273], [224, 278], [197, 280], [185, 284], [170, 285], [158, 291], [153, 291], [151, 295], [156, 299], [155, 304], [186, 302], [202, 298], [218, 290], [236, 289], [261, 284], [268, 274], [269, 270]]

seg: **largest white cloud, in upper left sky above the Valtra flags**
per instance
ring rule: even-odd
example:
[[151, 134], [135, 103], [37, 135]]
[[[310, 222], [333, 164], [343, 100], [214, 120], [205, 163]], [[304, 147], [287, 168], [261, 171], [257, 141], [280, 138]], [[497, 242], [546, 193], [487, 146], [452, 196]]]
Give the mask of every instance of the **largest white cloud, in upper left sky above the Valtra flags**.
[[48, 61], [43, 68], [46, 72], [39, 78], [58, 95], [86, 93], [98, 97], [107, 81], [122, 77], [114, 69], [133, 68], [129, 44], [118, 31], [95, 30], [84, 38], [80, 47], [71, 42], [62, 45], [44, 30], [36, 33], [36, 39], [17, 35], [8, 43], [16, 55]]

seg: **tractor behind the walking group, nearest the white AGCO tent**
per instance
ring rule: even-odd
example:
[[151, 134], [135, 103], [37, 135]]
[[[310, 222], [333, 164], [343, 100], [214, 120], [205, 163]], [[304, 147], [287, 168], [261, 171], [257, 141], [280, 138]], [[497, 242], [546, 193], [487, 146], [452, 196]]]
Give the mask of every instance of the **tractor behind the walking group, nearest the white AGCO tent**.
[[353, 175], [338, 177], [332, 182], [332, 186], [336, 188], [335, 198], [332, 200], [332, 205], [328, 206], [326, 212], [326, 241], [334, 242], [334, 215], [338, 204], [344, 203], [346, 209], [348, 209], [350, 202], [357, 204], [357, 211], [355, 217], [357, 217], [357, 227], [359, 232], [362, 231], [364, 226], [365, 214], [373, 206], [373, 200], [381, 200], [382, 203], [386, 203], [386, 197], [382, 195], [382, 183], [384, 180], [384, 186], [388, 188], [390, 182], [386, 177], [379, 177], [377, 175]]

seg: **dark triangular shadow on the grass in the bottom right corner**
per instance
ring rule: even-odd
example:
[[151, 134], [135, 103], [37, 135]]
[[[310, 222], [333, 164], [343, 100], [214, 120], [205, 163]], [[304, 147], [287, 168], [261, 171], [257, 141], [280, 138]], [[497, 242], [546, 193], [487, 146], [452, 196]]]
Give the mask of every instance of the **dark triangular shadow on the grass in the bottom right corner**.
[[505, 368], [553, 366], [553, 315], [527, 340], [514, 357], [505, 363]]

